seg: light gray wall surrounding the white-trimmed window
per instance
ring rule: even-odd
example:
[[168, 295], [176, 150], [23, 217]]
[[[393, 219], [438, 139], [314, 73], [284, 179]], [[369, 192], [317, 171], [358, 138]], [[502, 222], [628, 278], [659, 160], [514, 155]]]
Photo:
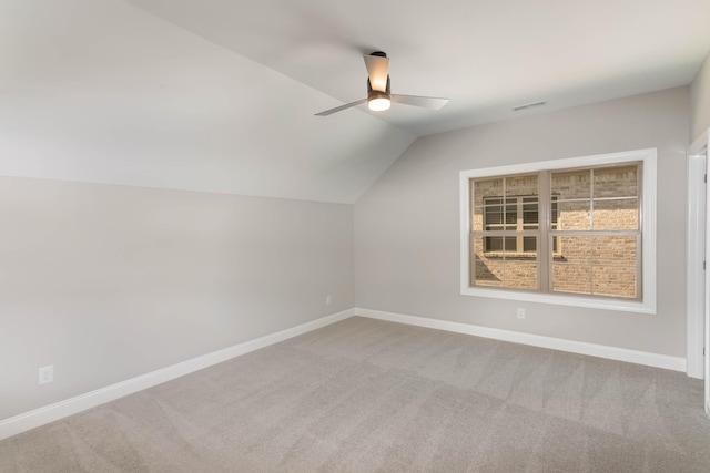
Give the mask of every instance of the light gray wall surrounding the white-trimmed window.
[[[671, 89], [417, 140], [355, 205], [357, 307], [684, 357], [689, 95]], [[658, 147], [657, 315], [459, 294], [459, 171], [648, 147]]]

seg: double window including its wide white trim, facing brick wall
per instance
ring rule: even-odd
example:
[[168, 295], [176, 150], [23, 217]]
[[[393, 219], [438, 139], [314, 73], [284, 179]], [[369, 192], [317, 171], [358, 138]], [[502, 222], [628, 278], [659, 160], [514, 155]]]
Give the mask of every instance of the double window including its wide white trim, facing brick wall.
[[655, 150], [463, 172], [462, 294], [655, 311]]

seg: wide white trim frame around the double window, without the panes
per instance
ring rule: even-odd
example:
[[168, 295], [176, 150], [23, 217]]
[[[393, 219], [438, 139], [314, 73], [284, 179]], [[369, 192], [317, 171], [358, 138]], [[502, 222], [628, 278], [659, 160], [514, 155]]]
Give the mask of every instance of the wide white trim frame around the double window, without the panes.
[[[470, 286], [471, 261], [470, 235], [470, 182], [474, 178], [494, 177], [544, 171], [564, 171], [576, 167], [595, 167], [631, 162], [641, 162], [641, 300], [601, 298], [579, 295], [521, 291], [504, 288]], [[622, 310], [629, 312], [656, 313], [656, 182], [657, 150], [636, 150], [622, 153], [599, 154], [592, 156], [551, 160], [538, 163], [514, 164], [509, 166], [486, 167], [462, 171], [459, 173], [460, 207], [460, 294], [464, 296], [491, 297], [497, 299], [530, 302], [555, 304], [595, 309]], [[540, 264], [545, 264], [540, 261]]]

